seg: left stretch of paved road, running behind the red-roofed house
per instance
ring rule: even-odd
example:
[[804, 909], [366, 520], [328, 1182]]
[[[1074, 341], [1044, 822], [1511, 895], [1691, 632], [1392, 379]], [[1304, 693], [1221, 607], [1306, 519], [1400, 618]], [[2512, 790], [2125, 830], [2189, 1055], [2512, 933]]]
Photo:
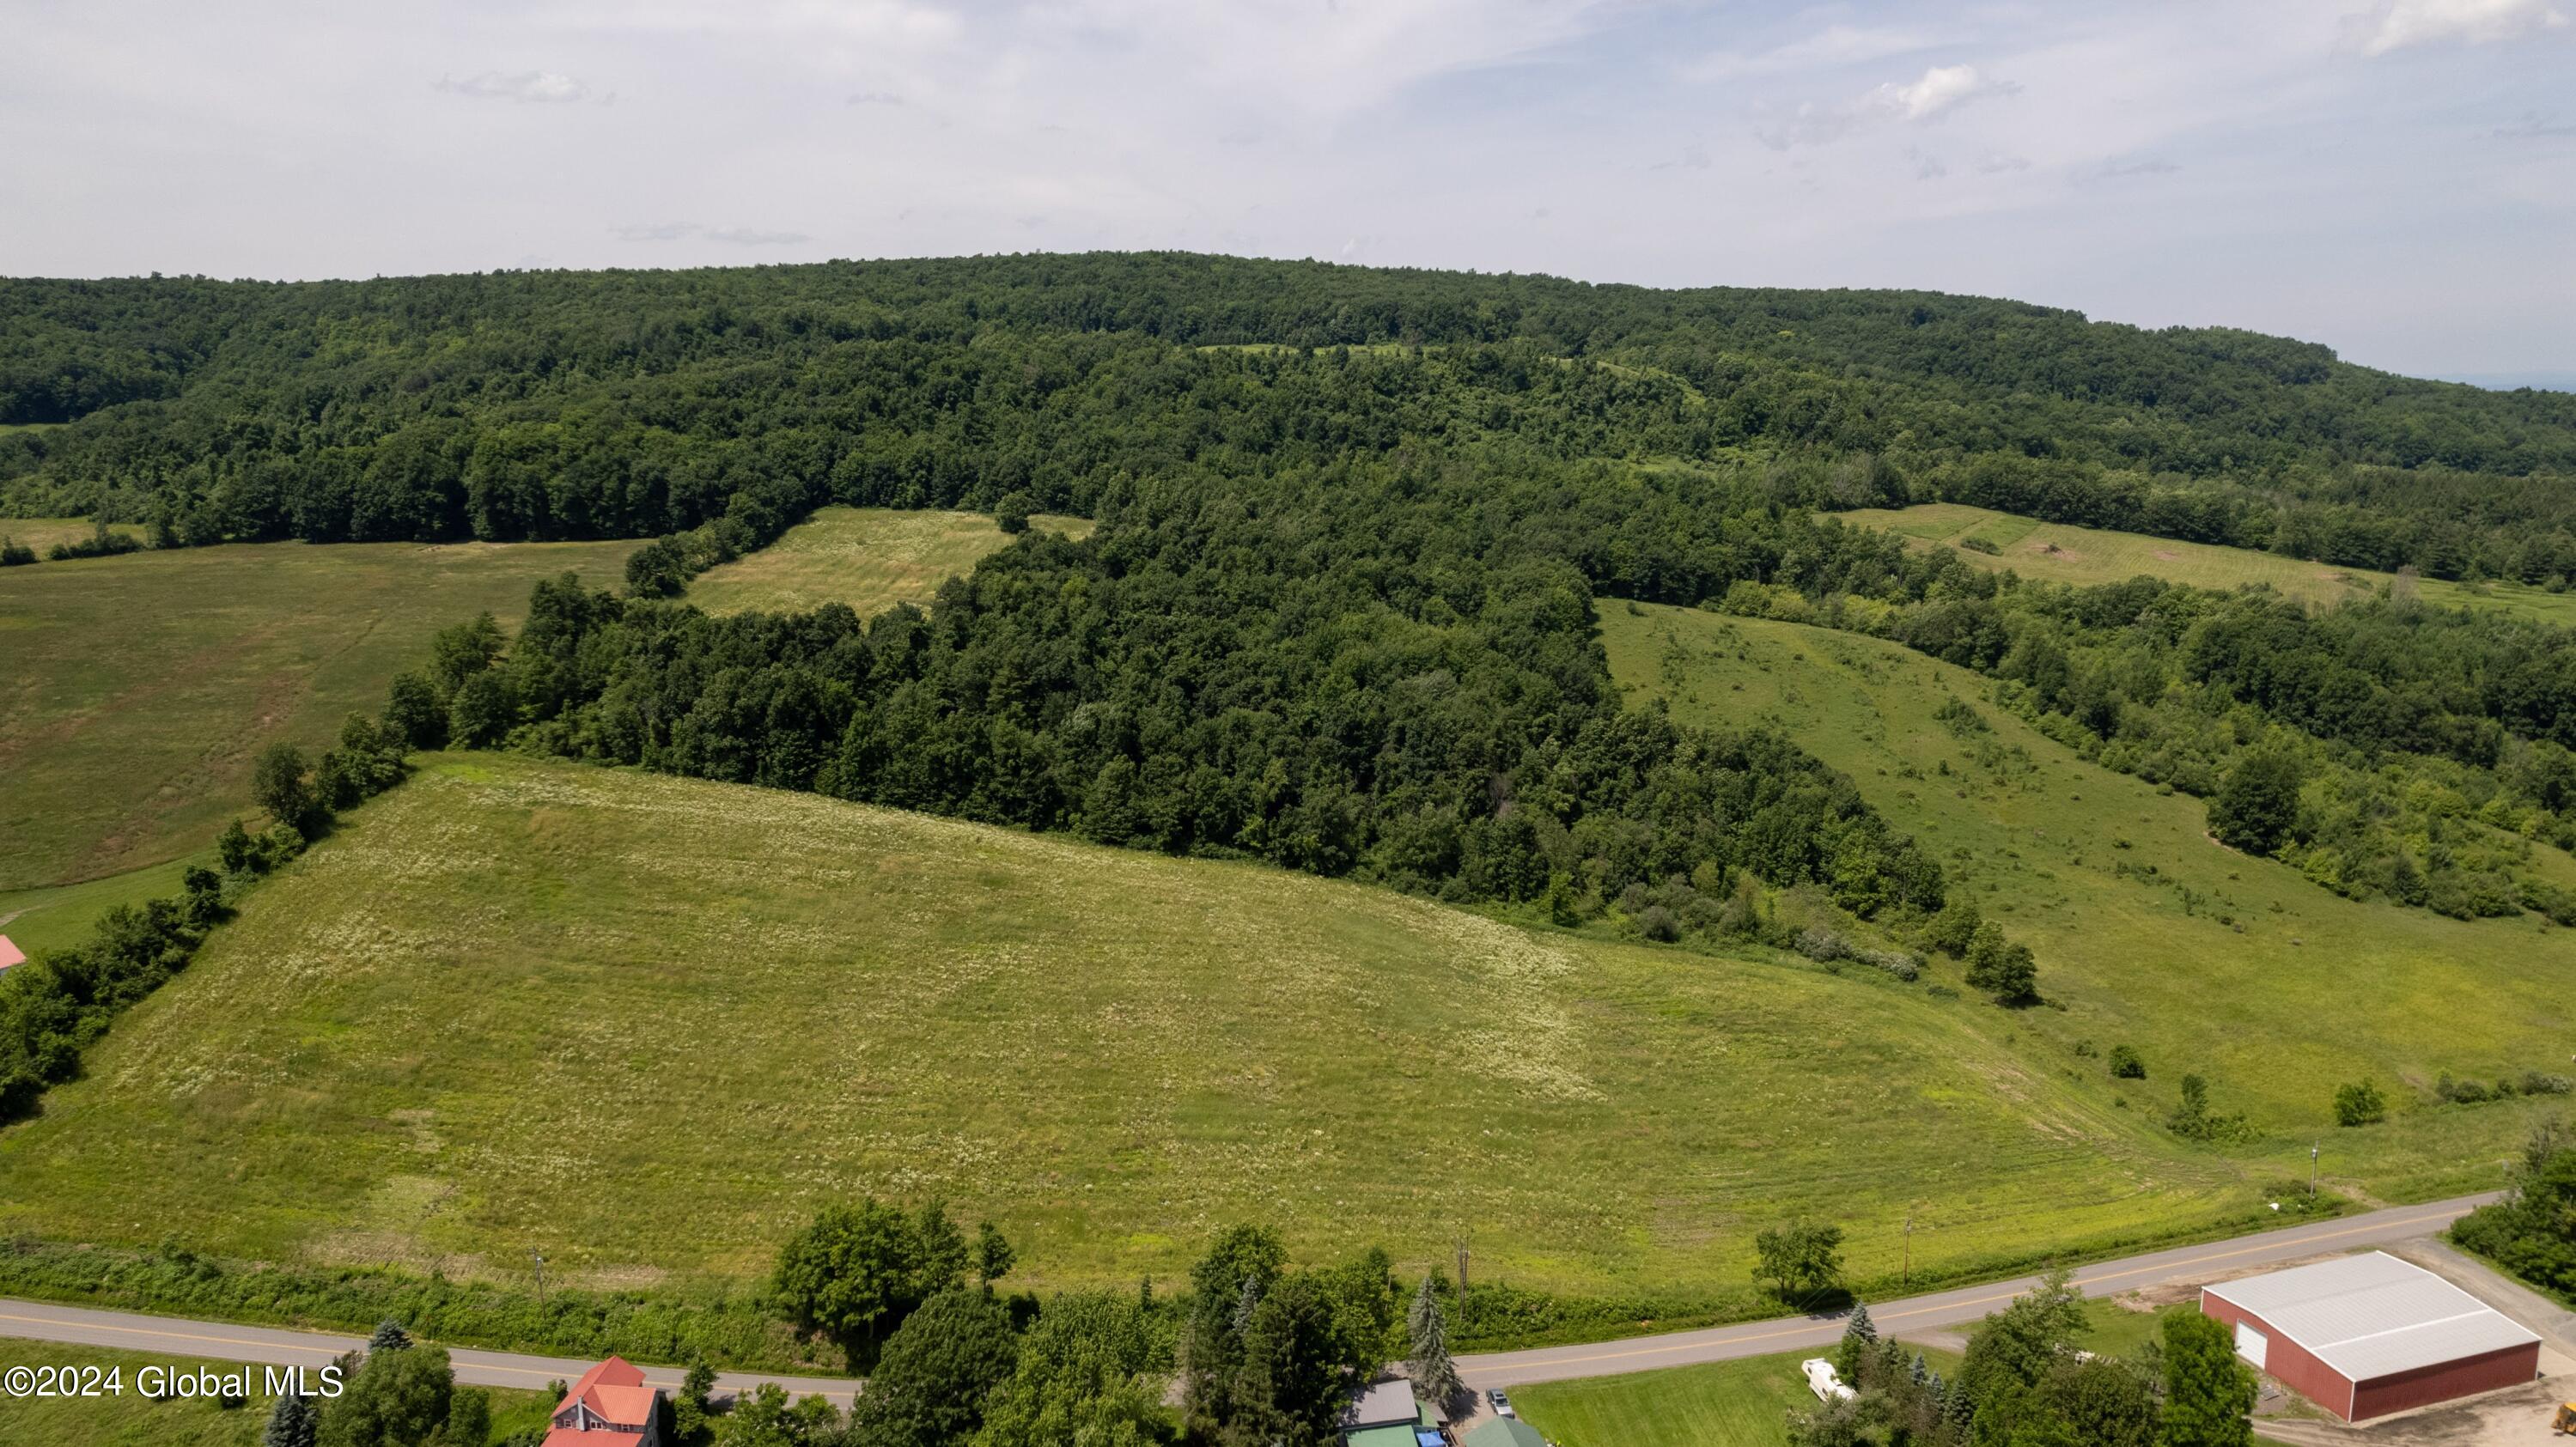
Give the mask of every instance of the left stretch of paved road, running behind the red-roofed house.
[[[178, 1321], [39, 1300], [0, 1300], [0, 1336], [33, 1336], [75, 1347], [124, 1347], [129, 1352], [165, 1352], [170, 1357], [214, 1357], [219, 1362], [273, 1362], [281, 1367], [322, 1367], [340, 1352], [366, 1347], [363, 1336], [232, 1326], [224, 1321]], [[0, 1347], [0, 1362], [5, 1359], [8, 1349]], [[592, 1362], [577, 1357], [523, 1357], [518, 1352], [479, 1352], [474, 1347], [448, 1347], [448, 1359], [456, 1362], [456, 1380], [477, 1388], [546, 1390], [546, 1383], [569, 1383], [592, 1367]], [[644, 1367], [644, 1380], [657, 1388], [680, 1390], [680, 1367]], [[719, 1393], [750, 1390], [760, 1383], [778, 1383], [788, 1396], [819, 1393], [840, 1406], [850, 1406], [850, 1396], [858, 1390], [858, 1383], [850, 1377], [716, 1375]]]

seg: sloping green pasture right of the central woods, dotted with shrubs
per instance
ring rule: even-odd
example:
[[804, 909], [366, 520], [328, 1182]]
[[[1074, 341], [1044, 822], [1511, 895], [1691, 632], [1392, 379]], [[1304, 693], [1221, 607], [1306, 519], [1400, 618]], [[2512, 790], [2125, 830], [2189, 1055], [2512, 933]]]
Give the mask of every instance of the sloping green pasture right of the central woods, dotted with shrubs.
[[[1631, 703], [1659, 695], [1682, 721], [1785, 731], [2030, 942], [2058, 1009], [2012, 1027], [2050, 1074], [2112, 1089], [2099, 1053], [2136, 1045], [2148, 1079], [2117, 1084], [2136, 1115], [2161, 1117], [2197, 1071], [2218, 1110], [2272, 1133], [2254, 1161], [2303, 1174], [2321, 1141], [2329, 1177], [2411, 1197], [2499, 1184], [2496, 1159], [2527, 1123], [2566, 1110], [2416, 1102], [2442, 1071], [2568, 1069], [2576, 932], [2326, 893], [2208, 839], [2202, 801], [2084, 762], [1989, 703], [1978, 675], [1896, 644], [1646, 605], [1605, 608], [1602, 636]], [[1945, 700], [1973, 705], [1986, 731], [1935, 721]], [[2334, 1087], [2354, 1079], [2391, 1094], [2391, 1123], [2334, 1128]]]

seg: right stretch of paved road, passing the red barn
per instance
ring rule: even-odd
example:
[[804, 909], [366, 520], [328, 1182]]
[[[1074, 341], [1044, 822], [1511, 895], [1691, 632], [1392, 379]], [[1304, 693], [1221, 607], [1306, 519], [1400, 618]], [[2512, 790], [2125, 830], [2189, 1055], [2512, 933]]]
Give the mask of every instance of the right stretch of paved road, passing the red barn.
[[[2367, 1215], [2344, 1215], [2316, 1226], [2287, 1231], [2262, 1231], [2233, 1241], [2205, 1246], [2177, 1246], [2120, 1262], [2102, 1262], [2076, 1272], [2084, 1295], [2115, 1295], [2138, 1287], [2208, 1280], [2223, 1272], [2293, 1262], [2324, 1251], [2352, 1251], [2357, 1246], [2385, 1246], [2432, 1236], [2473, 1208], [2496, 1200], [2499, 1192], [2463, 1195], [2429, 1205], [2401, 1205]], [[1880, 1331], [1906, 1334], [1937, 1326], [1976, 1321], [2007, 1300], [2022, 1295], [2040, 1277], [2017, 1277], [1981, 1287], [1960, 1287], [1904, 1300], [1870, 1303], [1870, 1321]], [[1628, 1341], [1597, 1341], [1589, 1347], [1540, 1347], [1535, 1352], [1484, 1352], [1458, 1357], [1458, 1377], [1471, 1388], [1512, 1388], [1525, 1383], [1561, 1383], [1569, 1377], [1607, 1377], [1615, 1372], [1643, 1372], [1649, 1367], [1682, 1367], [1690, 1362], [1726, 1362], [1734, 1357], [1767, 1357], [1772, 1352], [1798, 1352], [1806, 1347], [1832, 1347], [1842, 1339], [1842, 1313], [1785, 1316], [1777, 1321], [1747, 1321], [1741, 1326], [1710, 1326], [1705, 1331], [1669, 1331], [1664, 1336], [1633, 1336]]]

